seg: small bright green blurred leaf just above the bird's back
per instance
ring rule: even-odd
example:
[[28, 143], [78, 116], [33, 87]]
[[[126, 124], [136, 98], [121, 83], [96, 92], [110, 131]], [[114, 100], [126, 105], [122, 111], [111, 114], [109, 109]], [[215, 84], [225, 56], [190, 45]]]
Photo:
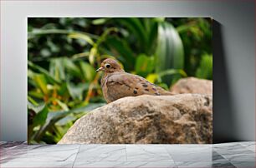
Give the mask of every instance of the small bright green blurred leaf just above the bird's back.
[[155, 67], [155, 58], [147, 57], [145, 54], [141, 54], [136, 58], [136, 73], [142, 77], [146, 77], [151, 73]]

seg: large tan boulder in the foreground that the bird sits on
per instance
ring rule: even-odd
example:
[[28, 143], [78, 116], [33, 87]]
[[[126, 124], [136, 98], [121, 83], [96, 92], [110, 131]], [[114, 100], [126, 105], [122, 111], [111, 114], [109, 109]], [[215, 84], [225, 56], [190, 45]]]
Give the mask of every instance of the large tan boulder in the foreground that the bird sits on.
[[212, 143], [212, 96], [128, 96], [82, 116], [59, 144]]

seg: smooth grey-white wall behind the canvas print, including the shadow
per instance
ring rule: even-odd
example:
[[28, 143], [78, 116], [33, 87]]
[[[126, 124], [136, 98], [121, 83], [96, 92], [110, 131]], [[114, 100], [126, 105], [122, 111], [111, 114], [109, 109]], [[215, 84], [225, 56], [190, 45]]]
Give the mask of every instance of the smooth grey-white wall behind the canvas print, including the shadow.
[[213, 138], [255, 141], [255, 14], [247, 1], [1, 1], [1, 141], [27, 140], [27, 17], [213, 17]]

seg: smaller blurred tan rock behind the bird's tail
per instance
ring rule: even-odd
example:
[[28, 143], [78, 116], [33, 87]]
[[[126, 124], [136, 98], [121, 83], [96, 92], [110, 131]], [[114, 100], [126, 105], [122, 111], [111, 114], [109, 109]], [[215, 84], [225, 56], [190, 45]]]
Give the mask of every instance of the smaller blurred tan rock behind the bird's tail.
[[175, 94], [212, 94], [212, 81], [198, 79], [196, 77], [182, 78], [176, 84], [174, 84], [174, 86], [172, 86], [171, 91]]

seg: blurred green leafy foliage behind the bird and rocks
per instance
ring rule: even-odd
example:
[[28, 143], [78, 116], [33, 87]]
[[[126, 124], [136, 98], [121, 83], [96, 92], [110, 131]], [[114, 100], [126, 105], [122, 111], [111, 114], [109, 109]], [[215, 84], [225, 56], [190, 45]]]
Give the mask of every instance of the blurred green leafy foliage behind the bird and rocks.
[[212, 79], [211, 18], [28, 18], [28, 143], [57, 143], [105, 105], [95, 73], [107, 57], [169, 89]]

